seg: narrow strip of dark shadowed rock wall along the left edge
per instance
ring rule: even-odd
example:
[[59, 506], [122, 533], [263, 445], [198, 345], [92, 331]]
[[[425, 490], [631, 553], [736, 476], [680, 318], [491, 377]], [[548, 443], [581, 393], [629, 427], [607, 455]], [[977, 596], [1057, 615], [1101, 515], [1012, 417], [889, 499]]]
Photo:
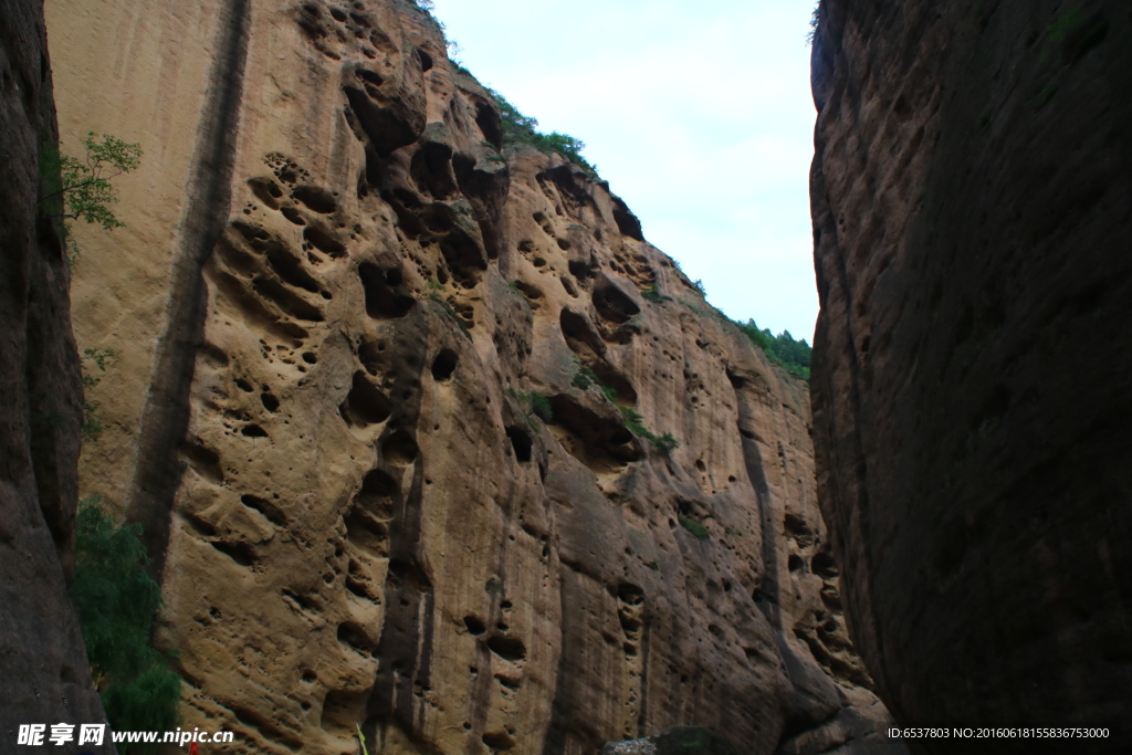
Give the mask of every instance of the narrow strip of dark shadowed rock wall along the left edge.
[[0, 740], [7, 749], [22, 723], [97, 723], [104, 715], [67, 597], [83, 393], [62, 226], [41, 213], [52, 170], [42, 153], [58, 138], [42, 6], [2, 0], [0, 16]]

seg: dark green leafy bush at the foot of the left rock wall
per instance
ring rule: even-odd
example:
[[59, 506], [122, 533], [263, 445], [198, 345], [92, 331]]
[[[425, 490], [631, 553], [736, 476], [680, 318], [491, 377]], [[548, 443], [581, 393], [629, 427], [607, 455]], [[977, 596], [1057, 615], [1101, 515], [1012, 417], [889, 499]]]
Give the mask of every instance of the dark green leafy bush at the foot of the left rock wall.
[[[165, 668], [171, 655], [149, 646], [161, 589], [145, 572], [139, 524], [118, 524], [101, 496], [79, 501], [71, 600], [95, 684], [112, 729], [171, 730], [181, 680]], [[123, 744], [119, 752], [153, 752]]]

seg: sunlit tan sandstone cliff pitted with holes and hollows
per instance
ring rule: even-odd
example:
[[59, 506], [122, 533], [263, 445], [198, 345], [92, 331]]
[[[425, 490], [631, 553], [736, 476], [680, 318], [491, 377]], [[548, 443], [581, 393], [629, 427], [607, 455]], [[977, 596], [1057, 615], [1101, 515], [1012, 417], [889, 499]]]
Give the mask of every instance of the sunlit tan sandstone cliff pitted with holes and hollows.
[[147, 149], [75, 288], [120, 354], [85, 484], [163, 565], [182, 726], [247, 753], [352, 753], [360, 724], [371, 752], [592, 755], [683, 723], [817, 753], [871, 733], [846, 710], [884, 720], [806, 385], [606, 183], [501, 155], [426, 14], [52, 16], [79, 37], [128, 62], [68, 59], [67, 123]]

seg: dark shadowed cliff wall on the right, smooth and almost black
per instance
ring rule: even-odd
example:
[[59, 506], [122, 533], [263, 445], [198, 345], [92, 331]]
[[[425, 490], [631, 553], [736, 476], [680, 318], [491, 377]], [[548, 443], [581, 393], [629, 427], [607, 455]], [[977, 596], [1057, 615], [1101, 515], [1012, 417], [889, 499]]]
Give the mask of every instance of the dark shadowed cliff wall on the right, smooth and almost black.
[[1129, 6], [821, 14], [814, 438], [858, 647], [909, 722], [1127, 721]]

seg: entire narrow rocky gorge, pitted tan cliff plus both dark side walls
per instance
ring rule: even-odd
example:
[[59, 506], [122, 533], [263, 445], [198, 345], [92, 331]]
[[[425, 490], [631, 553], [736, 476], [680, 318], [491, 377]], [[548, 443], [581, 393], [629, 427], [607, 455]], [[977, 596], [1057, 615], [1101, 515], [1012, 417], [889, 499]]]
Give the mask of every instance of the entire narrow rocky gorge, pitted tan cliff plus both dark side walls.
[[0, 0], [0, 752], [80, 498], [199, 755], [1127, 752], [1126, 0], [817, 3], [809, 381], [430, 8]]

